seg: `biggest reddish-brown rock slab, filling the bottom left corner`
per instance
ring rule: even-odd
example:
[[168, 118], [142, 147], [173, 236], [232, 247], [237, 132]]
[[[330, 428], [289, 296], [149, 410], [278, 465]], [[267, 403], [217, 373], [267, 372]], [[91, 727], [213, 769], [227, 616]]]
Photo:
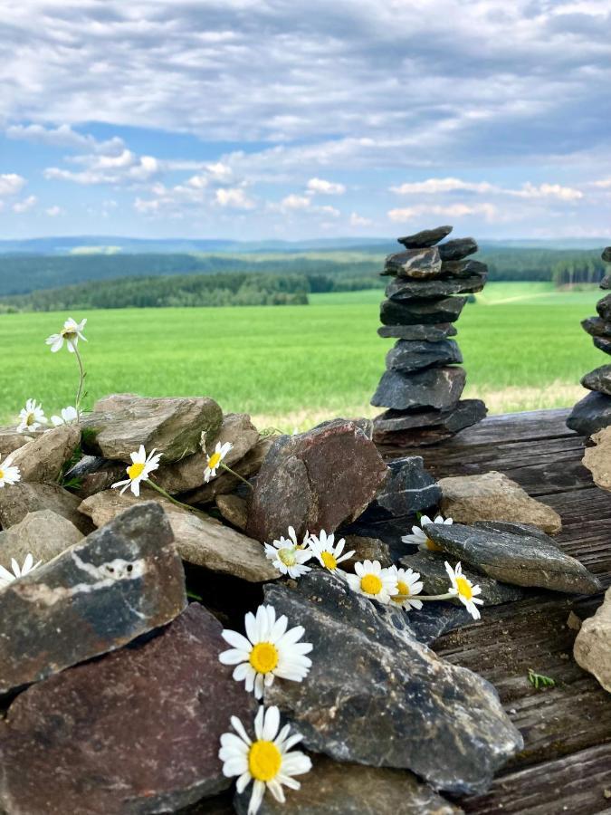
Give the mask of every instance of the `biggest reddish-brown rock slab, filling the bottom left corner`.
[[[196, 604], [158, 632], [17, 697], [0, 727], [0, 806], [27, 815], [176, 812], [231, 784], [218, 759], [252, 696]], [[202, 810], [204, 811], [204, 810]]]

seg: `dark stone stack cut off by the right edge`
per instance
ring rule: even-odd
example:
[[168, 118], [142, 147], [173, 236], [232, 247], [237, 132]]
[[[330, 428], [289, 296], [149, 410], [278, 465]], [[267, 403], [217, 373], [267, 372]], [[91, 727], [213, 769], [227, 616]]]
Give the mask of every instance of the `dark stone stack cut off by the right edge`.
[[[602, 258], [611, 264], [611, 246], [606, 247]], [[611, 289], [611, 272], [603, 278], [600, 288]], [[590, 334], [597, 349], [611, 354], [611, 293], [597, 302], [597, 312], [597, 317], [587, 317], [581, 325]], [[581, 384], [592, 392], [573, 408], [567, 425], [582, 436], [592, 436], [611, 425], [611, 365], [591, 370], [581, 379]]]

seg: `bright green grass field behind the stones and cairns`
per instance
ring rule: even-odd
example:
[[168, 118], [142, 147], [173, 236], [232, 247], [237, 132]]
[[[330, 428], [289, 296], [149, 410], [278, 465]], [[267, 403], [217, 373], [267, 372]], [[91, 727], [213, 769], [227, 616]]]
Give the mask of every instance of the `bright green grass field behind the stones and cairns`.
[[[491, 283], [458, 323], [465, 396], [492, 413], [561, 407], [585, 391], [579, 378], [606, 363], [579, 325], [598, 289], [556, 292], [549, 283]], [[310, 427], [334, 415], [374, 416], [369, 398], [392, 340], [377, 336], [381, 290], [311, 296], [310, 306], [6, 314], [0, 417], [26, 398], [47, 415], [72, 404], [76, 364], [44, 339], [63, 319], [88, 318], [82, 354], [88, 403], [111, 391], [208, 395], [247, 411], [261, 427]]]

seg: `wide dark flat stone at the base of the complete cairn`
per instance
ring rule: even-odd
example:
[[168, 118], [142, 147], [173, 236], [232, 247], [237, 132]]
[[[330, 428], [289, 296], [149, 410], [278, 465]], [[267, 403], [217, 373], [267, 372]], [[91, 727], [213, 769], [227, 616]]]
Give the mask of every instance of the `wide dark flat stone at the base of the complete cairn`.
[[378, 445], [433, 445], [482, 421], [487, 412], [480, 399], [462, 399], [449, 410], [387, 410], [374, 419], [373, 438]]

